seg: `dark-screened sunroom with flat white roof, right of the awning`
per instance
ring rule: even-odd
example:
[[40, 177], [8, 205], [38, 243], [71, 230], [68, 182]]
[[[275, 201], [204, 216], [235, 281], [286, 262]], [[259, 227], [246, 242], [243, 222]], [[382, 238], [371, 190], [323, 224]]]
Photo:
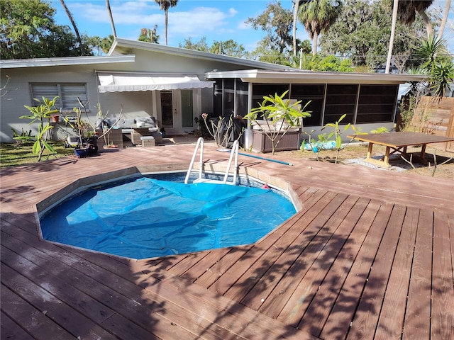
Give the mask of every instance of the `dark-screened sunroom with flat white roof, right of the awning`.
[[[335, 123], [342, 115], [342, 124], [351, 123], [362, 132], [377, 128], [394, 128], [399, 85], [421, 81], [421, 76], [409, 74], [356, 74], [340, 72], [310, 72], [288, 69], [270, 71], [250, 69], [230, 72], [208, 72], [214, 80], [215, 117], [243, 117], [258, 107], [263, 96], [282, 95], [306, 103], [311, 117], [304, 118], [300, 132], [316, 138], [327, 123]], [[297, 149], [301, 135], [294, 138]], [[253, 132], [248, 124], [245, 147], [253, 146]]]

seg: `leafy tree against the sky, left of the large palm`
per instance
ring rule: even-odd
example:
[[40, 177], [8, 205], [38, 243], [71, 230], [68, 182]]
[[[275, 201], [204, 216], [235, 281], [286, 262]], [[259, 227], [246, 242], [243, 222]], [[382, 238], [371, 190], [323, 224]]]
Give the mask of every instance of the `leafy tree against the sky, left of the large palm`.
[[292, 11], [282, 8], [279, 1], [268, 4], [257, 18], [248, 18], [245, 23], [255, 30], [260, 28], [267, 32], [262, 42], [271, 50], [277, 50], [279, 55], [292, 51]]

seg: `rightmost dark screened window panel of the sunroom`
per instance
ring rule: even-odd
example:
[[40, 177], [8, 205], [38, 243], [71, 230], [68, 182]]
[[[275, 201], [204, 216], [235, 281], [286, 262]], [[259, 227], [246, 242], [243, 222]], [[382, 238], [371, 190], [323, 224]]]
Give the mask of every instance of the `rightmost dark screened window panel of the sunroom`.
[[361, 85], [356, 123], [392, 122], [398, 85]]

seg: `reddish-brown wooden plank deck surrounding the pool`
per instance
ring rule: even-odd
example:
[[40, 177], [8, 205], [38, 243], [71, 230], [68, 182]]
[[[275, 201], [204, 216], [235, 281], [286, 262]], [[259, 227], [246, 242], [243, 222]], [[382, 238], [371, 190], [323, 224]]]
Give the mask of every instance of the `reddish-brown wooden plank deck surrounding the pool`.
[[453, 180], [240, 156], [303, 206], [257, 244], [132, 261], [38, 239], [35, 204], [59, 188], [192, 151], [1, 171], [1, 339], [454, 339]]

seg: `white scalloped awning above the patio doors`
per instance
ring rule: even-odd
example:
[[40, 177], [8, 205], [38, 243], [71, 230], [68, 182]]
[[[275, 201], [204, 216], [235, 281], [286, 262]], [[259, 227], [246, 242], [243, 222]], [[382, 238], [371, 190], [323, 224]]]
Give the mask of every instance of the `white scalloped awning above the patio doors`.
[[153, 77], [150, 74], [99, 73], [99, 93], [124, 91], [154, 91], [177, 89], [203, 89], [213, 87], [214, 81], [201, 81], [197, 77]]

